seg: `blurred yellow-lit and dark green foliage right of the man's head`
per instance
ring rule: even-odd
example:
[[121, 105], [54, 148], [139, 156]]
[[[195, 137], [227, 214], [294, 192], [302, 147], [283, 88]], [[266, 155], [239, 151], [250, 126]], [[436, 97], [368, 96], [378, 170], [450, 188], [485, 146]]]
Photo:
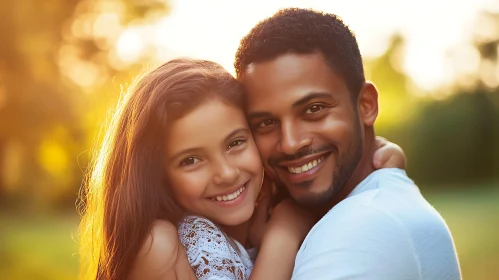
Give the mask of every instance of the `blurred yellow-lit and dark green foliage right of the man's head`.
[[[499, 16], [494, 20], [499, 24]], [[407, 171], [422, 186], [499, 182], [499, 88], [477, 78], [471, 88], [448, 89], [453, 94], [442, 100], [417, 97], [394, 59], [403, 44], [395, 36], [383, 56], [366, 62], [367, 76], [380, 92], [377, 134], [405, 150]], [[499, 40], [476, 48], [487, 49], [482, 61], [499, 65]], [[499, 188], [499, 183], [488, 186]]]

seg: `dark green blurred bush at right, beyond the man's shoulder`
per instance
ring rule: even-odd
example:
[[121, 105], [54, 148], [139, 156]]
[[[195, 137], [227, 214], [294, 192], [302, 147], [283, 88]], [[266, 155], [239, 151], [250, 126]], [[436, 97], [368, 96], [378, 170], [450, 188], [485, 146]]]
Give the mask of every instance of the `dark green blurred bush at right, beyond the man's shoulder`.
[[424, 184], [492, 181], [497, 177], [498, 107], [494, 95], [461, 92], [443, 101], [424, 104], [417, 121], [408, 126], [409, 173]]

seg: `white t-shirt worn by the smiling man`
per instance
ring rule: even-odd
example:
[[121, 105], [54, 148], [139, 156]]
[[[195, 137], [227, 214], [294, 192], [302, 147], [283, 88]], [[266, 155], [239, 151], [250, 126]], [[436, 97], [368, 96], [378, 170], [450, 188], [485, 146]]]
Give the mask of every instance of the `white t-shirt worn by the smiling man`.
[[293, 280], [461, 279], [452, 236], [405, 171], [380, 169], [308, 233]]

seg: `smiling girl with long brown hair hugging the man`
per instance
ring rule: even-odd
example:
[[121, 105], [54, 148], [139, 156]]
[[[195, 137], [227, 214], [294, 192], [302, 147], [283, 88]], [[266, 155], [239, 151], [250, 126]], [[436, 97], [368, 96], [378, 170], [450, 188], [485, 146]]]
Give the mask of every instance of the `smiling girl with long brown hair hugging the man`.
[[[240, 84], [214, 62], [172, 60], [135, 84], [82, 194], [83, 278], [291, 278], [314, 219], [290, 200], [251, 219], [263, 168], [243, 108]], [[375, 160], [403, 162], [387, 147]], [[265, 230], [248, 236], [250, 223]]]

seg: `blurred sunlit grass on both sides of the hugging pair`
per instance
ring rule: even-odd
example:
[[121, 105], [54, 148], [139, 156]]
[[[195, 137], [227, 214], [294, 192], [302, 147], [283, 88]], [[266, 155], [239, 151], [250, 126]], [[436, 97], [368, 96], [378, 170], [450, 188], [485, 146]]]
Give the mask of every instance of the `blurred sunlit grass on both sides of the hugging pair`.
[[[499, 185], [424, 189], [447, 221], [464, 279], [499, 279]], [[447, 190], [449, 190], [447, 188]], [[76, 215], [0, 215], [1, 279], [76, 279]]]

